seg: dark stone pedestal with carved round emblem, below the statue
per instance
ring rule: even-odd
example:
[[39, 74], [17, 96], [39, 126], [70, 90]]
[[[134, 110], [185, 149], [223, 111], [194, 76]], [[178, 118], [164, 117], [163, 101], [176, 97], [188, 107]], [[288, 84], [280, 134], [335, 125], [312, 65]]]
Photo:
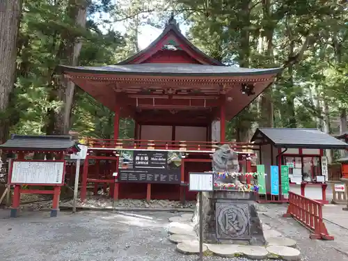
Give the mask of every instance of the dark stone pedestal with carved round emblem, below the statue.
[[[198, 204], [193, 216], [199, 233]], [[254, 194], [240, 191], [203, 192], [203, 242], [208, 244], [266, 244]]]

